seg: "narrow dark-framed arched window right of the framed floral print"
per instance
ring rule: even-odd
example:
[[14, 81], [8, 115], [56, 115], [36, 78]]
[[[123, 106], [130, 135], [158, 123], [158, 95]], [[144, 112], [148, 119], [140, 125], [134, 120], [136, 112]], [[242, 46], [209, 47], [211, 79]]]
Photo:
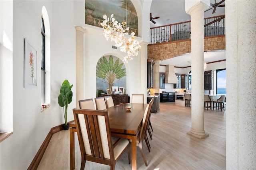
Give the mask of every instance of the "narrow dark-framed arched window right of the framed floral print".
[[41, 104], [45, 103], [45, 29], [41, 15]]

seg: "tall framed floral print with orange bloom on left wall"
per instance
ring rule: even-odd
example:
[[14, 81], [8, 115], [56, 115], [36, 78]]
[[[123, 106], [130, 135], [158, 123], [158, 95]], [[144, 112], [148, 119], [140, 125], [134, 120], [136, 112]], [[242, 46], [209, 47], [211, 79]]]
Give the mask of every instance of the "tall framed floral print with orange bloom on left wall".
[[37, 70], [36, 70], [37, 52], [32, 44], [25, 38], [24, 46], [24, 88], [36, 88]]

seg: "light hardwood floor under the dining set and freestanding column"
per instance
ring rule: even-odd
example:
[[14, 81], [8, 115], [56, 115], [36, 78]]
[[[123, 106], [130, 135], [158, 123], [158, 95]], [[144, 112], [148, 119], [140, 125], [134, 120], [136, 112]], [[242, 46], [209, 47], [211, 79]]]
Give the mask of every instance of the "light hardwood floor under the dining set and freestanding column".
[[[174, 102], [160, 103], [160, 111], [152, 113], [154, 132], [149, 139], [151, 152], [144, 142], [146, 167], [137, 150], [138, 170], [226, 170], [226, 112], [204, 109], [204, 130], [210, 134], [204, 139], [186, 134], [191, 128], [191, 108], [176, 106]], [[148, 136], [149, 137], [149, 136]], [[75, 137], [76, 170], [80, 169], [81, 155]], [[38, 170], [68, 170], [69, 131], [53, 134], [38, 166]], [[109, 170], [110, 166], [86, 162], [87, 170]], [[127, 153], [116, 164], [116, 170], [130, 170]]]

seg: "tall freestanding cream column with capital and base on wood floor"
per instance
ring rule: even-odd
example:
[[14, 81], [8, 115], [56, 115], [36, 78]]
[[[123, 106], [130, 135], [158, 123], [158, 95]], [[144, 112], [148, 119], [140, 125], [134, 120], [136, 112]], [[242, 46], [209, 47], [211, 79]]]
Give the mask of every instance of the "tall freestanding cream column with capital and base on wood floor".
[[209, 136], [204, 131], [204, 10], [206, 4], [199, 1], [189, 8], [186, 13], [191, 16], [191, 121], [192, 127], [187, 132], [196, 138]]

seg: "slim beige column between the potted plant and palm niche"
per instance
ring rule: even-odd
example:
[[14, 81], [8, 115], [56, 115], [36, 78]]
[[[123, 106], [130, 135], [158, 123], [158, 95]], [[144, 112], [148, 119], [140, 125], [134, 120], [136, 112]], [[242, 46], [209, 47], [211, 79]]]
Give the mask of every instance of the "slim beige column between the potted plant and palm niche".
[[76, 108], [78, 100], [84, 99], [84, 33], [86, 30], [76, 26]]

